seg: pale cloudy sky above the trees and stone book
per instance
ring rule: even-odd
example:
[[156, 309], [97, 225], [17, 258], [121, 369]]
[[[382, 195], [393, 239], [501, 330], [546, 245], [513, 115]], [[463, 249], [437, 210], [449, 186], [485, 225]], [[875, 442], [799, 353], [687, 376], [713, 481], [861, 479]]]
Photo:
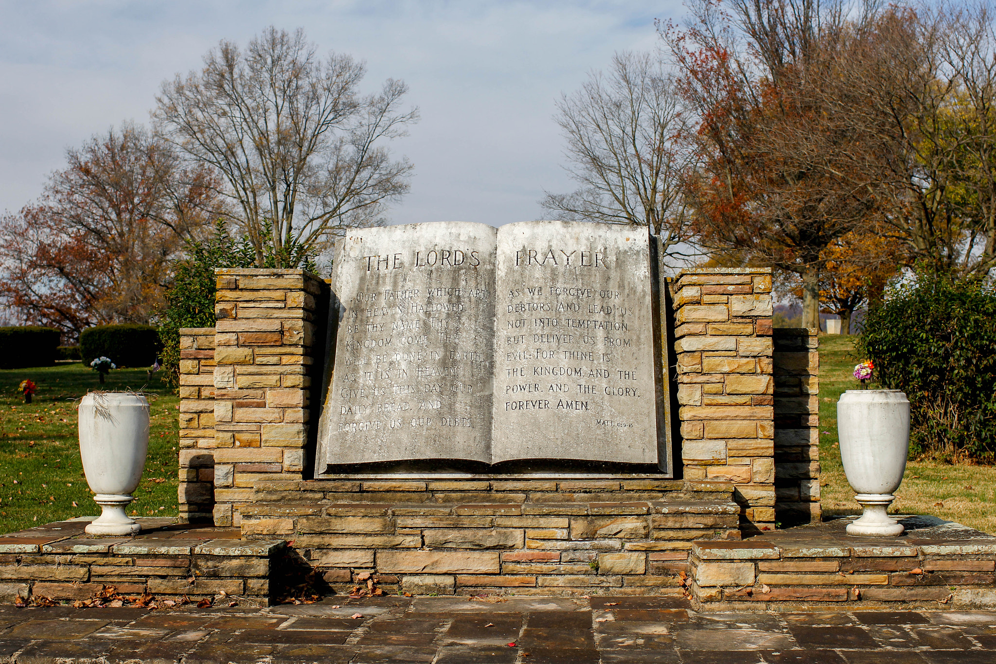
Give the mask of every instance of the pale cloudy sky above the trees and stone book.
[[421, 120], [394, 141], [415, 166], [395, 223], [542, 218], [573, 190], [553, 120], [562, 92], [621, 50], [656, 47], [680, 0], [0, 0], [0, 212], [36, 198], [65, 149], [148, 121], [160, 83], [221, 39], [304, 27], [321, 53], [365, 60], [365, 92], [404, 80]]

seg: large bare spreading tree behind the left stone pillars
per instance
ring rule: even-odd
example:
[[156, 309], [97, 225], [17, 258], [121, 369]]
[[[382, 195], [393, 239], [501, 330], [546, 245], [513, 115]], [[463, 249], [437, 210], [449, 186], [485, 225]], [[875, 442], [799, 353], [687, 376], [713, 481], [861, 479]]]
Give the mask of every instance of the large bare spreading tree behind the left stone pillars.
[[159, 130], [222, 174], [258, 263], [267, 243], [278, 266], [296, 250], [321, 250], [408, 190], [411, 165], [380, 143], [404, 135], [417, 111], [399, 111], [400, 81], [360, 96], [364, 74], [347, 55], [321, 60], [300, 29], [270, 27], [245, 51], [222, 41], [203, 70], [162, 84]]

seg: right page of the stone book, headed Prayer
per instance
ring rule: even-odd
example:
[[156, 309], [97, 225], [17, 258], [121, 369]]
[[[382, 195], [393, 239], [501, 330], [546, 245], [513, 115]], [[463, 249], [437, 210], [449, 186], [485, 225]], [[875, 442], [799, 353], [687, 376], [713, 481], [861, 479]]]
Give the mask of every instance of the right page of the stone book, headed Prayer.
[[645, 229], [498, 229], [492, 463], [658, 463]]

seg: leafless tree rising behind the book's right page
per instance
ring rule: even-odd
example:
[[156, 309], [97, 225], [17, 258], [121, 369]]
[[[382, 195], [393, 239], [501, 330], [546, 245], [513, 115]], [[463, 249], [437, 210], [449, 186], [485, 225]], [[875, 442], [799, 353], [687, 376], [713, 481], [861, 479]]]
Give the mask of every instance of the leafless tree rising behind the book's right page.
[[591, 74], [557, 109], [566, 169], [581, 188], [548, 193], [543, 207], [561, 219], [647, 226], [669, 255], [687, 256], [691, 237], [678, 186], [689, 163], [679, 139], [686, 120], [660, 61], [618, 53], [608, 74]]

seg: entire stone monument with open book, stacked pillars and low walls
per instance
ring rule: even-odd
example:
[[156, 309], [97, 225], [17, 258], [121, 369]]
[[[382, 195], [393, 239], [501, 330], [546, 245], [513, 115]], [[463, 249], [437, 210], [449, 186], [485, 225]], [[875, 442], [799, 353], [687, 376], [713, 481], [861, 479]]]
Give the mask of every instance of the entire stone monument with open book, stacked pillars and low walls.
[[181, 331], [178, 523], [7, 534], [0, 595], [996, 603], [996, 538], [821, 522], [816, 331], [772, 328], [769, 270], [667, 277], [656, 243], [447, 222], [352, 232], [329, 280], [217, 270], [215, 327]]

